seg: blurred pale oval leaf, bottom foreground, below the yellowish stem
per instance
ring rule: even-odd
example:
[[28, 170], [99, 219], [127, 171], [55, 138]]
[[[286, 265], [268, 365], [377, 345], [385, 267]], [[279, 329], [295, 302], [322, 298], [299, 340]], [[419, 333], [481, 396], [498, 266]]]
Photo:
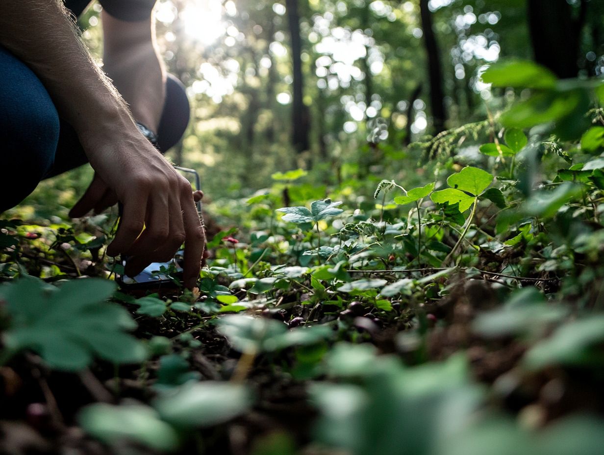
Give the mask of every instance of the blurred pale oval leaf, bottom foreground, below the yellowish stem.
[[245, 413], [251, 404], [246, 386], [214, 381], [187, 382], [153, 401], [164, 421], [182, 428], [223, 424]]

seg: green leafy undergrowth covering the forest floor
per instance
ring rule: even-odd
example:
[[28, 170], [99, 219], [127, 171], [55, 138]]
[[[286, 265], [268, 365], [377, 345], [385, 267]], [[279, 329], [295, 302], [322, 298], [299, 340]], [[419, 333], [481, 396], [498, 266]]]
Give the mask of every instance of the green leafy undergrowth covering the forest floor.
[[604, 86], [519, 61], [482, 77], [522, 96], [392, 172], [279, 172], [208, 204], [193, 291], [174, 269], [118, 289], [111, 215], [5, 217], [0, 419], [106, 453], [597, 453]]

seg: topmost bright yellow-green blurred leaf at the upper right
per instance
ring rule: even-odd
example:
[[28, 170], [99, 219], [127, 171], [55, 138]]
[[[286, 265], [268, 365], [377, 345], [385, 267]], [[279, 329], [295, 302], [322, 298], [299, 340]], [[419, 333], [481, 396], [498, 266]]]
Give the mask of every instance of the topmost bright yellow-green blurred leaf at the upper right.
[[484, 83], [502, 88], [553, 89], [557, 80], [549, 69], [528, 60], [494, 63], [481, 77]]

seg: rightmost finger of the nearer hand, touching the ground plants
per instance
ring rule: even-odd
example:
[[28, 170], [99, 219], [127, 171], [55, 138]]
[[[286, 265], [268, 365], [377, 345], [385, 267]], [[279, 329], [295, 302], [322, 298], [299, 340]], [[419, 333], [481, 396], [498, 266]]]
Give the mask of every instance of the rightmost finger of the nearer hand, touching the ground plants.
[[205, 248], [205, 231], [190, 190], [181, 196], [182, 221], [185, 229], [184, 285], [191, 289], [197, 283]]

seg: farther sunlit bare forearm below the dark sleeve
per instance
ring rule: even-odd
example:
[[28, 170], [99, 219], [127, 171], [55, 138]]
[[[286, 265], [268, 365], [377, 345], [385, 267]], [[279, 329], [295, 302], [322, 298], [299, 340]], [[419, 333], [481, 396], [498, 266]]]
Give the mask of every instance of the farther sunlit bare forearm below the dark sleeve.
[[134, 117], [157, 132], [165, 98], [165, 69], [155, 47], [153, 19], [125, 22], [103, 11], [103, 69]]

